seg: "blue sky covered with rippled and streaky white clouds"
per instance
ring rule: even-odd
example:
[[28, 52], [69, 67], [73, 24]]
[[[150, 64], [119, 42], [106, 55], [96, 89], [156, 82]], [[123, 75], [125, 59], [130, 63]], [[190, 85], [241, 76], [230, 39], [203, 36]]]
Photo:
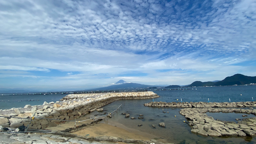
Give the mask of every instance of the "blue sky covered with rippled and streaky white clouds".
[[0, 88], [256, 76], [255, 0], [0, 1]]

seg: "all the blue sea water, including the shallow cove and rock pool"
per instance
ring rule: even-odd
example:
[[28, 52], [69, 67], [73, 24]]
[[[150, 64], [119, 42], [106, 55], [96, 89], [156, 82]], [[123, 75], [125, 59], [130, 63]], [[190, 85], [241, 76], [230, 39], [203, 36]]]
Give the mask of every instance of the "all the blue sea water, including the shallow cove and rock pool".
[[[149, 89], [148, 89], [149, 91]], [[181, 108], [173, 107], [146, 107], [145, 103], [151, 101], [163, 102], [240, 102], [256, 100], [256, 85], [238, 85], [238, 86], [216, 86], [216, 87], [189, 87], [189, 88], [171, 88], [171, 89], [153, 89], [150, 90], [158, 94], [159, 98], [154, 99], [138, 99], [138, 100], [117, 100], [104, 107], [103, 112], [93, 111], [92, 115], [102, 115], [105, 112], [112, 112], [122, 105], [117, 113], [112, 115], [107, 121], [102, 123], [121, 126], [140, 132], [146, 132], [155, 135], [156, 140], [162, 140], [169, 143], [256, 143], [256, 137], [210, 137], [200, 134], [191, 133], [191, 127], [186, 123], [188, 120], [185, 116], [180, 115]], [[56, 102], [68, 93], [48, 93], [45, 95], [26, 95], [5, 93], [0, 94], [0, 109], [23, 108], [25, 105], [42, 105], [46, 102]], [[254, 108], [254, 107], [253, 107]], [[244, 108], [247, 109], [247, 108]], [[166, 113], [163, 113], [165, 111]], [[129, 113], [130, 117], [125, 118], [122, 113]], [[236, 118], [243, 119], [242, 113], [206, 113], [214, 119], [222, 121], [235, 121]], [[143, 119], [138, 119], [139, 115], [143, 115]], [[247, 117], [256, 117], [252, 114]], [[183, 122], [185, 121], [185, 123]], [[164, 122], [165, 128], [158, 124]], [[142, 126], [138, 126], [141, 124]], [[154, 124], [156, 127], [152, 127]], [[154, 139], [152, 137], [152, 139]]]

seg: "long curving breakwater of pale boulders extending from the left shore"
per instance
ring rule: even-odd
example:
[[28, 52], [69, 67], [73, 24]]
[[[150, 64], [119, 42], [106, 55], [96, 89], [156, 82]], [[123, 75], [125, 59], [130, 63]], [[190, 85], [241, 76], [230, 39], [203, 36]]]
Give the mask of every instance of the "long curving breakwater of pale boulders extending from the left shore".
[[55, 103], [44, 102], [39, 106], [26, 105], [24, 108], [0, 110], [0, 116], [3, 116], [0, 117], [0, 125], [12, 128], [29, 125], [29, 129], [45, 129], [65, 121], [75, 120], [94, 110], [100, 111], [102, 106], [116, 100], [156, 97], [159, 96], [154, 92], [69, 94]]

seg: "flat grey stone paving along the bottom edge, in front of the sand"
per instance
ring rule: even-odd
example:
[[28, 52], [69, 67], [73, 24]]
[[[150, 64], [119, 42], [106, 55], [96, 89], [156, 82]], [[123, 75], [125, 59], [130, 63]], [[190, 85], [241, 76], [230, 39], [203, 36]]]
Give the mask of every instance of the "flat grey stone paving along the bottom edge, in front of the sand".
[[68, 135], [58, 135], [58, 134], [11, 134], [11, 133], [1, 133], [0, 134], [0, 143], [9, 144], [9, 143], [28, 143], [28, 144], [102, 144], [109, 143], [114, 144], [117, 142], [121, 143], [140, 143], [140, 144], [149, 144], [149, 143], [158, 143], [164, 144], [161, 141], [157, 140], [133, 140], [133, 139], [120, 139], [117, 137], [108, 137], [108, 136], [100, 136], [100, 137], [78, 137], [74, 134]]

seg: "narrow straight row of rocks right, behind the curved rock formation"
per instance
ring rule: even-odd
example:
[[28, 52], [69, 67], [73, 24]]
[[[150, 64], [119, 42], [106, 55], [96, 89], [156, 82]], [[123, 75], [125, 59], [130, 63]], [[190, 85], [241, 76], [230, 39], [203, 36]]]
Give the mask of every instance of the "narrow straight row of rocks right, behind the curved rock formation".
[[221, 108], [221, 107], [255, 107], [256, 101], [254, 102], [149, 102], [145, 103], [144, 106], [149, 107], [189, 107], [189, 108]]

